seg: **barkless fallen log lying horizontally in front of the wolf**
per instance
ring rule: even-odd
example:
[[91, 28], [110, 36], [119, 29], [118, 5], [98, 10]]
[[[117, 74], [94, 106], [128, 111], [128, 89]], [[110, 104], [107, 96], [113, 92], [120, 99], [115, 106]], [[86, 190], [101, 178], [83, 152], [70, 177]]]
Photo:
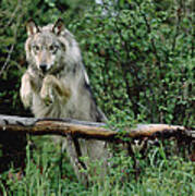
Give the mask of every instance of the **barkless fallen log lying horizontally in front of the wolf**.
[[179, 125], [137, 124], [125, 131], [112, 131], [105, 123], [77, 121], [72, 119], [35, 119], [11, 115], [0, 115], [0, 134], [10, 132], [31, 135], [62, 135], [71, 134], [78, 138], [120, 140], [122, 138], [142, 137], [188, 137], [195, 140], [195, 131]]

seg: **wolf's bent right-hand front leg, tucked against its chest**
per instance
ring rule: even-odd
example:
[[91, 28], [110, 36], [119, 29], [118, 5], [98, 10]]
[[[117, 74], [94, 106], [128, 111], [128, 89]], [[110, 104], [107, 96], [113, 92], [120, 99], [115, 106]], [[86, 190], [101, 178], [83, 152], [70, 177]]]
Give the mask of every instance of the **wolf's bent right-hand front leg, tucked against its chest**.
[[65, 85], [53, 75], [47, 75], [44, 78], [40, 89], [40, 97], [46, 105], [54, 102], [57, 99], [66, 101], [71, 96], [71, 91]]

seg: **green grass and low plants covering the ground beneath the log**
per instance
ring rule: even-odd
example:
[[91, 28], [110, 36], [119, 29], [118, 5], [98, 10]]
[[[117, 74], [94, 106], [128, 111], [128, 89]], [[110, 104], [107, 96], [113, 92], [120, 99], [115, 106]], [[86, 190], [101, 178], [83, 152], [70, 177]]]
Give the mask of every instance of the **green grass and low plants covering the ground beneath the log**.
[[[0, 176], [3, 196], [187, 196], [195, 195], [195, 164], [181, 157], [166, 157], [162, 146], [150, 149], [146, 159], [139, 159], [141, 174], [134, 176], [133, 160], [123, 152], [112, 158], [117, 168], [103, 183], [86, 188], [77, 182], [69, 159], [61, 164], [60, 146], [48, 138], [37, 138], [33, 151], [27, 146], [25, 175], [17, 179], [16, 170], [10, 169]], [[41, 140], [41, 143], [40, 143]], [[138, 156], [137, 156], [138, 157]], [[13, 173], [12, 177], [10, 173]]]

